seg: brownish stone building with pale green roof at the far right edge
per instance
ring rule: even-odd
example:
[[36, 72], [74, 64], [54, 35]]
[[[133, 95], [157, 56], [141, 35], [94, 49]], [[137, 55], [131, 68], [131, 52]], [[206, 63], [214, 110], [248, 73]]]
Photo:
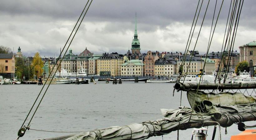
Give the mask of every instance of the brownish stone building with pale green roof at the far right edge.
[[240, 62], [246, 61], [249, 66], [255, 66], [256, 62], [256, 41], [252, 41], [243, 46], [239, 46], [240, 49]]

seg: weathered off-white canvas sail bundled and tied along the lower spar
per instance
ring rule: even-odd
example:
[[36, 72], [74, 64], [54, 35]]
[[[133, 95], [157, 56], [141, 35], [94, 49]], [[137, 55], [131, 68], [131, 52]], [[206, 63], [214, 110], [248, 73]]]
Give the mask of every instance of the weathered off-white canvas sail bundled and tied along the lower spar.
[[[215, 93], [190, 90], [187, 92], [187, 96], [191, 107], [194, 106], [193, 110], [184, 106], [176, 110], [161, 109], [164, 115], [162, 119], [87, 131], [66, 136], [61, 140], [142, 140], [170, 133], [176, 130], [180, 124], [188, 122], [202, 123], [208, 119], [218, 120], [223, 114], [253, 112], [256, 110], [255, 96], [244, 96], [242, 93], [224, 92], [216, 95]], [[53, 139], [56, 140], [56, 138], [45, 140]]]

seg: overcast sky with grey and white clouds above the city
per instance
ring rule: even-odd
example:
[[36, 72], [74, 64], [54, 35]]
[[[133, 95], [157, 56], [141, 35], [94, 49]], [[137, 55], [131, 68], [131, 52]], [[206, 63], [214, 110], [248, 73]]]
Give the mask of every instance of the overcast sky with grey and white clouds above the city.
[[[218, 0], [219, 10], [222, 0]], [[59, 55], [87, 0], [1, 0], [0, 45], [14, 52], [33, 56]], [[204, 0], [205, 11], [208, 0]], [[214, 13], [210, 1], [196, 50], [206, 52]], [[85, 19], [71, 44], [74, 54], [86, 47], [94, 54], [118, 52], [131, 48], [137, 12], [137, 29], [142, 53], [185, 50], [198, 0], [93, 0]], [[225, 0], [214, 34], [210, 52], [220, 51], [230, 0]], [[234, 49], [256, 40], [256, 2], [245, 0]], [[202, 22], [203, 12], [197, 25]], [[195, 37], [199, 27], [196, 28]], [[192, 40], [191, 49], [194, 47]]]

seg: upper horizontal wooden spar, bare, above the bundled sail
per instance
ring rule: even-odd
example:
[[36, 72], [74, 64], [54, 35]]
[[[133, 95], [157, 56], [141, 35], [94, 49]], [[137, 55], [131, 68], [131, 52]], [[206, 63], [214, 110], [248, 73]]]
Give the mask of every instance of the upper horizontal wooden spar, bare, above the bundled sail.
[[[197, 90], [199, 83], [176, 83], [174, 88], [178, 91]], [[256, 83], [200, 83], [199, 90], [224, 90], [224, 89], [253, 89]]]

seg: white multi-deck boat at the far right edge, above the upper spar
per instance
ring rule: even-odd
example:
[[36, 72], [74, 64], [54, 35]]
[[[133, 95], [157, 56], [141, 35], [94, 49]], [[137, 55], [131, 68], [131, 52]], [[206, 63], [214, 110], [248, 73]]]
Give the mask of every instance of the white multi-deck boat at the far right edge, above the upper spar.
[[234, 77], [232, 80], [234, 83], [254, 83], [256, 79], [250, 76], [249, 72], [240, 72], [238, 77]]

